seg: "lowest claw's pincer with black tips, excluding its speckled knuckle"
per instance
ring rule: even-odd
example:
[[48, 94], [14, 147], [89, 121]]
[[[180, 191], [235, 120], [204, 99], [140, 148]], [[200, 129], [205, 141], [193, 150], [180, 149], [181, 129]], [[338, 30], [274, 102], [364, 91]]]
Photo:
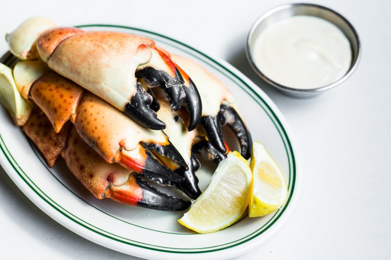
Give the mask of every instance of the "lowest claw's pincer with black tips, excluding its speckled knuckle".
[[151, 209], [178, 211], [189, 201], [173, 198], [150, 186], [119, 164], [108, 163], [89, 147], [73, 128], [62, 156], [71, 172], [98, 199]]

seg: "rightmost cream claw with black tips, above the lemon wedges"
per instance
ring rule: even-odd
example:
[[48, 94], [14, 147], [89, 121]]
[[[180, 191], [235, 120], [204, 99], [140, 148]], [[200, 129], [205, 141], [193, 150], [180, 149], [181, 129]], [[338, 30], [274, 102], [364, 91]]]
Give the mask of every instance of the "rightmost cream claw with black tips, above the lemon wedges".
[[[222, 82], [194, 61], [177, 55], [173, 55], [172, 60], [188, 73], [197, 86], [202, 101], [201, 124], [208, 141], [219, 153], [226, 154], [227, 148], [221, 127], [227, 125], [239, 140], [240, 154], [245, 159], [250, 158], [251, 135], [239, 116], [232, 94]], [[207, 149], [210, 150], [210, 147]]]

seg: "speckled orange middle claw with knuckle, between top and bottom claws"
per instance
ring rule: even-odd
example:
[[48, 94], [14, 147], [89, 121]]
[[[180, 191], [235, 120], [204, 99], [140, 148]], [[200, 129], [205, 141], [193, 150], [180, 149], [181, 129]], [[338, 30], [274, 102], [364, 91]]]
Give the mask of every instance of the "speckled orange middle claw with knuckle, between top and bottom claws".
[[81, 138], [107, 162], [119, 163], [136, 173], [182, 181], [151, 152], [187, 168], [162, 131], [139, 125], [106, 101], [55, 72], [48, 72], [29, 85], [31, 99], [46, 114], [56, 133], [71, 120]]

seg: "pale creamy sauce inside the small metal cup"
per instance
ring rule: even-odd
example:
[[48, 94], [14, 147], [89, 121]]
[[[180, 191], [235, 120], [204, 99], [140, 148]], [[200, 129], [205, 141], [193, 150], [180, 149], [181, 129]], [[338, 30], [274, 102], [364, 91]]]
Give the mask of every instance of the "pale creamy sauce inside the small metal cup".
[[351, 49], [348, 39], [331, 22], [294, 16], [261, 32], [253, 46], [253, 59], [271, 80], [311, 89], [341, 79], [350, 67]]

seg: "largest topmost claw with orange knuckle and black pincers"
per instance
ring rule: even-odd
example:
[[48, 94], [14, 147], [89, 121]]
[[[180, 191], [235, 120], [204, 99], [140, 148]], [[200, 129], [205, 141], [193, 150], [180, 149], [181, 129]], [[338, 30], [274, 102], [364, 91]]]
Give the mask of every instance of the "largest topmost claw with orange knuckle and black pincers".
[[[152, 98], [137, 79], [145, 80], [149, 87], [160, 87], [174, 111], [185, 100], [181, 74], [169, 56], [156, 48], [149, 38], [57, 27], [44, 32], [36, 46], [51, 69], [150, 129], [161, 130], [165, 124], [149, 107]], [[189, 112], [193, 113], [191, 105], [186, 103]]]

